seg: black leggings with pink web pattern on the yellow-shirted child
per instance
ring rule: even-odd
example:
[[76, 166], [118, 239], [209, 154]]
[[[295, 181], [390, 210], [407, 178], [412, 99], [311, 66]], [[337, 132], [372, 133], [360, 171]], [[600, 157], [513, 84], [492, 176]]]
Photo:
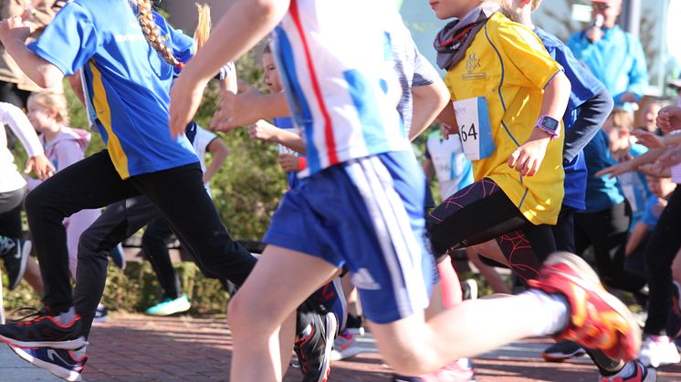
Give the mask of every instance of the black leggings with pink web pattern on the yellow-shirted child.
[[540, 259], [556, 251], [550, 226], [529, 222], [487, 178], [447, 198], [428, 221], [436, 255], [496, 239], [511, 269], [524, 280], [537, 277]]

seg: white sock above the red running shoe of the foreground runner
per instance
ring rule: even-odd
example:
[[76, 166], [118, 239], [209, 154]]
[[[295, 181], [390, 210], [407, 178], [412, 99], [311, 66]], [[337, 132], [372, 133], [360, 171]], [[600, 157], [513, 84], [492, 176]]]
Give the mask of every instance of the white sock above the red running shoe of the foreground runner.
[[546, 294], [536, 289], [518, 295], [525, 312], [536, 319], [534, 336], [553, 336], [570, 322], [570, 305], [561, 294]]

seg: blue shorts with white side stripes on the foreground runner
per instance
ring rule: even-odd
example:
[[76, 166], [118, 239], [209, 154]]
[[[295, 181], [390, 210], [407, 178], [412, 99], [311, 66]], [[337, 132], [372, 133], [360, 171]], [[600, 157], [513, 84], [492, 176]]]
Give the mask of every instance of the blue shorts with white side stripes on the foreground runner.
[[265, 242], [347, 265], [364, 315], [378, 324], [428, 305], [424, 173], [411, 152], [349, 160], [288, 191]]

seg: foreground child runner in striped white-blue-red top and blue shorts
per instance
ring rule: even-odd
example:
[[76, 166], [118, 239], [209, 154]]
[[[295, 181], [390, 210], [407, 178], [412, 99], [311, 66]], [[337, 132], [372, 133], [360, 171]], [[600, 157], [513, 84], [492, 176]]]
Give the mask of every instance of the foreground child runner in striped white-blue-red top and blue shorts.
[[[386, 92], [393, 81], [382, 77], [391, 75], [385, 70], [390, 56], [385, 27], [375, 15], [394, 12], [389, 3], [237, 1], [213, 35], [229, 31], [233, 38], [209, 39], [172, 89], [171, 130], [179, 134], [216, 63], [240, 56], [281, 22], [275, 32], [279, 69], [294, 120], [307, 138], [310, 171], [305, 183], [284, 197], [267, 232], [265, 253], [230, 303], [231, 380], [281, 379], [280, 325], [344, 263], [382, 356], [403, 374], [432, 371], [519, 337], [559, 333], [611, 356], [632, 358], [639, 335], [634, 320], [604, 292], [586, 263], [566, 253], [550, 256], [532, 282], [549, 293], [533, 289], [466, 301], [424, 322], [426, 280], [432, 274], [422, 242], [424, 177]], [[479, 5], [472, 0], [439, 4], [460, 17]], [[348, 28], [348, 20], [355, 27]], [[499, 29], [494, 26], [492, 33]], [[525, 156], [516, 159], [523, 174], [535, 172], [538, 163], [526, 167]], [[315, 234], [301, 238], [299, 232]], [[299, 276], [303, 269], [306, 277]], [[273, 279], [278, 288], [271, 288]], [[602, 320], [603, 314], [612, 319]], [[591, 336], [585, 336], [587, 330]]]

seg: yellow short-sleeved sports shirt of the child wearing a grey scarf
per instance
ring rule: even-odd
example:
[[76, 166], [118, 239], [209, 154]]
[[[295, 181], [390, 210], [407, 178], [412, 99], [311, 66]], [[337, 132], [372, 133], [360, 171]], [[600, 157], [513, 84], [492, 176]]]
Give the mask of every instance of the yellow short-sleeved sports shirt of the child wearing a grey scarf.
[[[520, 177], [508, 156], [528, 138], [540, 117], [544, 88], [562, 67], [527, 27], [492, 15], [451, 68], [445, 83], [453, 100], [483, 97], [496, 150], [473, 161], [474, 178], [490, 178], [534, 224], [555, 224], [563, 198], [563, 134], [551, 140], [540, 170]], [[561, 128], [561, 131], [564, 131]]]

